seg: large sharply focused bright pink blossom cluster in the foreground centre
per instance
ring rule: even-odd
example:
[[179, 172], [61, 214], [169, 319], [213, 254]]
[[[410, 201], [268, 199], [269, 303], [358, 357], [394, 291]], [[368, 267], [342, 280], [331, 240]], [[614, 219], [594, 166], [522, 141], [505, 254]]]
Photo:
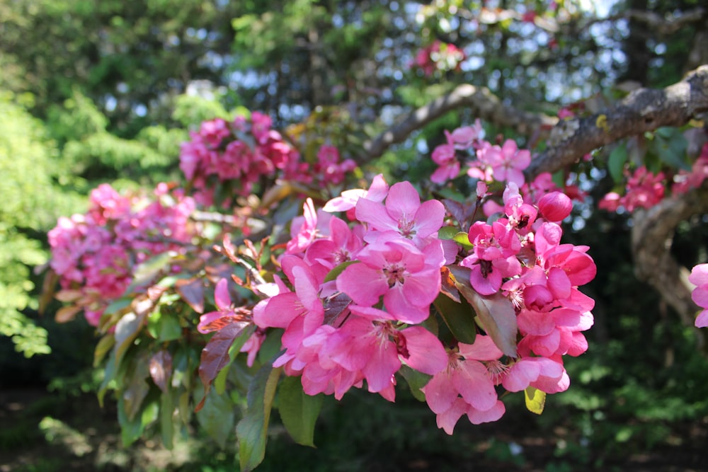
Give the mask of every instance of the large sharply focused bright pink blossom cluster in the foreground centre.
[[[310, 395], [341, 398], [365, 381], [394, 401], [394, 374], [407, 365], [432, 376], [422, 390], [450, 434], [463, 414], [474, 423], [501, 418], [498, 386], [568, 388], [562, 356], [587, 349], [581, 332], [593, 323], [593, 300], [578, 286], [595, 276], [587, 247], [560, 242], [569, 197], [550, 192], [532, 205], [509, 183], [504, 216], [476, 221], [460, 246], [439, 236], [442, 203], [421, 203], [408, 182], [389, 188], [379, 175], [369, 190], [345, 193], [324, 209], [347, 212], [351, 224], [306, 202], [280, 258], [276, 294], [253, 309], [256, 326], [284, 330], [275, 366], [300, 376]], [[498, 330], [472, 344], [443, 344], [423, 327], [431, 304], [445, 297], [441, 274], [452, 277], [453, 267], [464, 297], [492, 300], [510, 318], [513, 347], [499, 345]]]

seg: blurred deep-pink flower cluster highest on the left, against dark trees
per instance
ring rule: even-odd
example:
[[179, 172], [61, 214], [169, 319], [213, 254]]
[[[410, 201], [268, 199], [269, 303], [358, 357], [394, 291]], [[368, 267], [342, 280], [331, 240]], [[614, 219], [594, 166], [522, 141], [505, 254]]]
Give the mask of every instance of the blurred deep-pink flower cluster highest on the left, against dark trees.
[[[190, 132], [190, 141], [181, 145], [180, 168], [200, 205], [214, 205], [222, 185], [229, 187], [224, 195], [249, 195], [263, 177], [337, 184], [355, 167], [350, 159], [340, 162], [336, 147], [326, 145], [310, 166], [272, 125], [268, 115], [253, 112], [249, 120], [216, 118], [202, 122], [198, 132]], [[228, 206], [232, 199], [222, 197], [220, 202]]]

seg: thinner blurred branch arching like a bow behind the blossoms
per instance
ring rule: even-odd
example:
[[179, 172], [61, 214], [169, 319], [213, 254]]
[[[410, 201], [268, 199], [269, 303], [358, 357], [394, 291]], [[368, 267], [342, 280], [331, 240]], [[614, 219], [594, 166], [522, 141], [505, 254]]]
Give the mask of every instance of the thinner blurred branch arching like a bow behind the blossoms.
[[515, 110], [501, 103], [489, 88], [476, 87], [470, 84], [459, 85], [445, 96], [436, 98], [428, 105], [413, 111], [398, 124], [390, 127], [369, 142], [364, 144], [366, 159], [376, 159], [393, 144], [403, 142], [413, 131], [420, 129], [429, 122], [445, 113], [467, 107], [477, 117], [515, 128], [522, 134], [531, 134], [537, 129], [550, 128], [558, 119], [542, 113], [530, 113]]

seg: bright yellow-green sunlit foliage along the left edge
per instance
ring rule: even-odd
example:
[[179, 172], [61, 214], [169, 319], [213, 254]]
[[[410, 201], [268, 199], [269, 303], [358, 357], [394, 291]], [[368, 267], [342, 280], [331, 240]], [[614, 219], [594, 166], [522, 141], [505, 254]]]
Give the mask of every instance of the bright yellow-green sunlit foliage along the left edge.
[[37, 238], [61, 214], [71, 213], [78, 200], [59, 190], [56, 149], [45, 128], [11, 94], [0, 96], [0, 334], [9, 336], [27, 357], [50, 352], [47, 331], [26, 312], [38, 309], [30, 267], [47, 262]]

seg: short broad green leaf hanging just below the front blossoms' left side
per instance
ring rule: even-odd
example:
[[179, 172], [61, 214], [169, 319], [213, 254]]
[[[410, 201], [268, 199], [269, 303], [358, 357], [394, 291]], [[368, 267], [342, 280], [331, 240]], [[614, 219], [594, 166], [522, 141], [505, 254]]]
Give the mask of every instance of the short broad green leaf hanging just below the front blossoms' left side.
[[286, 376], [278, 389], [278, 411], [282, 424], [297, 444], [314, 447], [314, 425], [322, 408], [322, 395], [302, 391], [299, 377]]

